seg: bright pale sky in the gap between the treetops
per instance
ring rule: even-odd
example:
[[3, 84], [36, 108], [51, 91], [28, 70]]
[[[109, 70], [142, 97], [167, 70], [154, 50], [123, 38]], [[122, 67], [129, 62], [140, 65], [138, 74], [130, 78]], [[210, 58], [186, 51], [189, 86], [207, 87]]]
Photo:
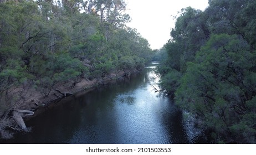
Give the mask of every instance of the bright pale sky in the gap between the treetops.
[[132, 21], [127, 25], [136, 28], [143, 38], [149, 40], [152, 49], [160, 49], [171, 38], [175, 16], [182, 8], [191, 6], [202, 11], [208, 0], [126, 0], [127, 13]]

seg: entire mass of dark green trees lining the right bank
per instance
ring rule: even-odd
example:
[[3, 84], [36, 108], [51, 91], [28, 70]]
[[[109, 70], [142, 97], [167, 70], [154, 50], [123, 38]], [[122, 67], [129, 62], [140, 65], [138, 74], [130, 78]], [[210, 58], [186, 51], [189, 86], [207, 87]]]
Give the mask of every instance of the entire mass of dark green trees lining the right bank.
[[212, 143], [256, 143], [256, 1], [178, 13], [158, 73]]

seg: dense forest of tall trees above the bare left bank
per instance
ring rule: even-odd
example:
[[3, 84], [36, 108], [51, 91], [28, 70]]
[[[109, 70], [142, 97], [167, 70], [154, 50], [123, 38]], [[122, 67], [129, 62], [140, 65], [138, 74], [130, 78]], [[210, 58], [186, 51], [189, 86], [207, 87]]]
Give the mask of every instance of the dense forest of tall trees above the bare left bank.
[[22, 130], [11, 112], [29, 108], [24, 103], [35, 93], [47, 98], [60, 85], [144, 68], [153, 51], [126, 26], [125, 9], [123, 0], [0, 1], [2, 138]]

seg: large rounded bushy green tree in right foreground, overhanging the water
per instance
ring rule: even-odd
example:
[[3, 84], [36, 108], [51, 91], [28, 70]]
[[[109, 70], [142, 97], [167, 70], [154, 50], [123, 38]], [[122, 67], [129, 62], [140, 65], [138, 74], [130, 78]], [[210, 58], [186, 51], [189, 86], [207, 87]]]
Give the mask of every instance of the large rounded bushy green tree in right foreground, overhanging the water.
[[254, 75], [250, 70], [255, 54], [249, 49], [237, 35], [212, 35], [197, 53], [196, 61], [188, 64], [176, 91], [177, 104], [204, 120], [217, 133], [216, 139], [243, 141], [231, 128], [242, 123], [240, 118], [250, 111], [246, 102], [255, 96], [255, 83], [245, 82], [247, 75]]

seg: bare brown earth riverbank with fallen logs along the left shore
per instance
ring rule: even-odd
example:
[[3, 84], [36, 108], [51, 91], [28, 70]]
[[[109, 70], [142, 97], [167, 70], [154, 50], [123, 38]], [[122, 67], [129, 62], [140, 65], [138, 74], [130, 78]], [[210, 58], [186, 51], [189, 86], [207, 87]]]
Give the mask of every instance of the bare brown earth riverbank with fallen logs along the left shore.
[[[137, 70], [119, 71], [119, 73], [111, 73], [98, 79], [79, 79], [79, 82], [66, 82], [65, 84], [56, 84], [49, 95], [45, 97], [42, 92], [33, 87], [16, 88], [14, 95], [22, 95], [22, 100], [16, 102], [12, 108], [4, 112], [0, 119], [0, 138], [12, 138], [14, 132], [29, 132], [29, 128], [25, 122], [30, 118], [36, 117], [52, 107], [58, 106], [58, 102], [66, 97], [78, 97], [93, 90], [96, 86], [108, 84], [115, 79], [121, 79], [131, 74], [138, 73]], [[18, 93], [19, 92], [19, 93]], [[15, 97], [15, 96], [14, 96]]]

